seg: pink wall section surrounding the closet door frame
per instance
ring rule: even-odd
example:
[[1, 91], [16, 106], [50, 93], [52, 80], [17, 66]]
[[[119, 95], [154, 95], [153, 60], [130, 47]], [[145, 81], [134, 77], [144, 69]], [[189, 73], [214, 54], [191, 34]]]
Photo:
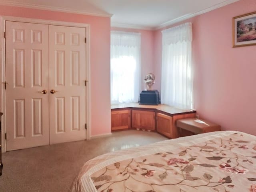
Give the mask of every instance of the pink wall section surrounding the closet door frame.
[[91, 135], [110, 133], [110, 18], [12, 6], [0, 15], [90, 24]]

